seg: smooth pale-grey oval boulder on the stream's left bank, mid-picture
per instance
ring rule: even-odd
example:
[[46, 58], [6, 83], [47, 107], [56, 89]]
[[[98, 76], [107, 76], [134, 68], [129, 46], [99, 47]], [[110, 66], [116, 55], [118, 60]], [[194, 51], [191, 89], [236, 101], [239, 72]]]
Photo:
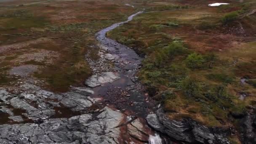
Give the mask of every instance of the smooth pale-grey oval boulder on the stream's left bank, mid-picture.
[[89, 87], [96, 87], [104, 83], [112, 83], [115, 80], [120, 79], [114, 72], [103, 72], [100, 75], [93, 75], [85, 81], [85, 85]]

